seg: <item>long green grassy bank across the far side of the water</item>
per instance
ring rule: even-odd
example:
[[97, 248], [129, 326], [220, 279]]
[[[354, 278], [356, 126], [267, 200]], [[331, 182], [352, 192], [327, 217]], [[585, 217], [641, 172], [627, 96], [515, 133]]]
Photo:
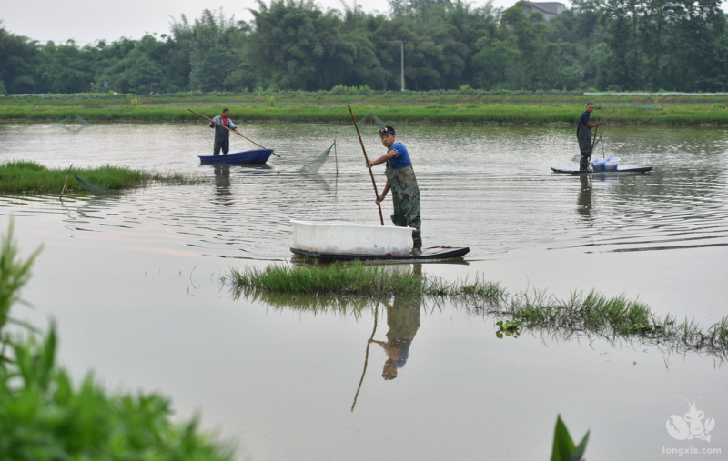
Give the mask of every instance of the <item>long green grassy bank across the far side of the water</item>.
[[485, 95], [485, 94], [277, 94], [179, 95], [166, 97], [44, 99], [0, 98], [0, 122], [62, 120], [76, 111], [90, 122], [196, 122], [187, 107], [211, 116], [223, 107], [236, 121], [350, 124], [372, 112], [392, 123], [573, 124], [584, 105], [612, 125], [726, 125], [722, 96], [661, 95]]

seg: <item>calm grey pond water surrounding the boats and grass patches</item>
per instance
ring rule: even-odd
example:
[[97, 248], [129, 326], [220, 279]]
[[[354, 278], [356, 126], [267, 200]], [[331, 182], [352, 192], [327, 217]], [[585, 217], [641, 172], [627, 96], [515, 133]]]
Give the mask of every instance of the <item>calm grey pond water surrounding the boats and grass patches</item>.
[[[728, 131], [602, 126], [595, 155], [654, 170], [580, 178], [550, 169], [577, 165], [572, 127], [397, 128], [420, 182], [424, 246], [470, 247], [464, 264], [400, 270], [483, 276], [511, 293], [624, 294], [703, 326], [728, 314]], [[199, 165], [212, 149], [205, 125], [0, 125], [2, 162], [202, 179], [120, 197], [0, 197], [3, 232], [14, 216], [25, 255], [44, 245], [24, 292], [35, 307], [17, 306], [15, 317], [55, 318], [75, 376], [94, 369], [110, 389], [161, 391], [179, 418], [199, 412], [245, 459], [544, 459], [559, 414], [574, 438], [591, 430], [590, 459], [728, 452], [728, 373], [715, 356], [558, 331], [501, 339], [494, 319], [430, 299], [359, 315], [238, 299], [220, 278], [288, 264], [290, 219], [379, 222], [348, 128], [240, 129], [281, 156], [265, 167]], [[383, 154], [376, 131], [364, 131], [369, 157]], [[318, 175], [299, 173], [334, 139], [336, 157]], [[375, 173], [381, 190], [382, 167]], [[379, 343], [368, 346], [373, 330]], [[409, 356], [384, 379], [397, 335]], [[716, 421], [711, 442], [667, 433], [667, 419], [689, 409], [681, 396], [701, 397], [697, 408]]]

